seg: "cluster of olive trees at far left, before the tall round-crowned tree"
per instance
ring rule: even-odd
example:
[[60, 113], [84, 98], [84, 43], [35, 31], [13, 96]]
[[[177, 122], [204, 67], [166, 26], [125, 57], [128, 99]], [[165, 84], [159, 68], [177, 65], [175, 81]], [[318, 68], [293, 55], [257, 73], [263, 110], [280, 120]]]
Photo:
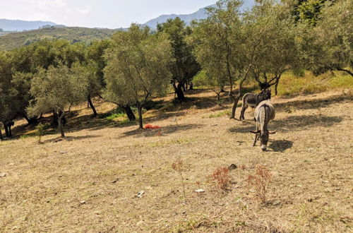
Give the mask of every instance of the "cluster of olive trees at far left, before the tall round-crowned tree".
[[[35, 124], [41, 114], [53, 112], [53, 123], [62, 126], [64, 108], [82, 101], [78, 96], [88, 100], [97, 114], [91, 97], [100, 95], [104, 87], [100, 57], [106, 47], [105, 41], [88, 47], [66, 40], [43, 40], [11, 52], [1, 52], [0, 121], [6, 136], [11, 136], [8, 124], [16, 117], [24, 117], [28, 124]], [[79, 87], [72, 85], [73, 79], [78, 81]], [[71, 97], [72, 100], [66, 101]]]

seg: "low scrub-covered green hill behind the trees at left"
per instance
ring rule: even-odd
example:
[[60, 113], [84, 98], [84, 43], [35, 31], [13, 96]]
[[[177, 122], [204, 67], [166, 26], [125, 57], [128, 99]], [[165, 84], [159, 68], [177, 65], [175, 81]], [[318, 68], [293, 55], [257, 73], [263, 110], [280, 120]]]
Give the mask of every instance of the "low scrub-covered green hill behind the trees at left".
[[45, 38], [65, 39], [72, 42], [91, 42], [110, 37], [116, 29], [102, 28], [42, 28], [25, 32], [13, 32], [0, 36], [0, 50], [10, 50]]

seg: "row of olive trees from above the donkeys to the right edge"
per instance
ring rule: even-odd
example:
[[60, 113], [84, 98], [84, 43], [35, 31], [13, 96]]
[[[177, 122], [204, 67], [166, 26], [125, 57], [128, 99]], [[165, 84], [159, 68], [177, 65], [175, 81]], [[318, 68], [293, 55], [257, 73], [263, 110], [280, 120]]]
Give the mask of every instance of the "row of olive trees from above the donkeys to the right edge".
[[[309, 5], [305, 2], [301, 4]], [[316, 74], [338, 70], [352, 76], [353, 3], [320, 2], [321, 13], [316, 7], [318, 13], [312, 20], [308, 16], [301, 20], [293, 8], [296, 0], [256, 1], [246, 12], [240, 11], [240, 0], [218, 1], [215, 8], [208, 8], [207, 19], [194, 23], [189, 36], [189, 44], [197, 43], [194, 54], [203, 68], [196, 85], [210, 87], [219, 103], [220, 92], [229, 85], [234, 118], [241, 85], [247, 78], [256, 80], [261, 89], [275, 85], [277, 95], [280, 78], [288, 70], [306, 68]], [[235, 97], [236, 81], [239, 90]]]

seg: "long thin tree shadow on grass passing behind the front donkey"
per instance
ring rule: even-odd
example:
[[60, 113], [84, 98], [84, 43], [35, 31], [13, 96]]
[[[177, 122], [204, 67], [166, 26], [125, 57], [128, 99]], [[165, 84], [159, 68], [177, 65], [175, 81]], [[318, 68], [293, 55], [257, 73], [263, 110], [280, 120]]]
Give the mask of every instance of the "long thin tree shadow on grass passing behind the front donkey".
[[[317, 126], [328, 128], [340, 123], [343, 119], [343, 117], [328, 117], [324, 115], [289, 116], [285, 119], [270, 121], [268, 129], [272, 131], [291, 132], [303, 131]], [[245, 121], [244, 124], [245, 126], [236, 126], [228, 129], [229, 133], [249, 133], [249, 131], [256, 129], [254, 121], [252, 124], [250, 121]]]

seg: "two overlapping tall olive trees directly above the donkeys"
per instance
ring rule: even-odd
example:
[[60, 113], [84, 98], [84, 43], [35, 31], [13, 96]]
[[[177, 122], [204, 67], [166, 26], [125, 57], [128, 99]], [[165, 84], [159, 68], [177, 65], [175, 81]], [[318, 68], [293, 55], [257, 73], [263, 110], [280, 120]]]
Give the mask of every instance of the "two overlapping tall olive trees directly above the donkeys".
[[232, 118], [246, 79], [256, 79], [261, 88], [276, 85], [277, 92], [282, 73], [297, 65], [294, 24], [285, 6], [259, 1], [241, 13], [241, 4], [239, 0], [218, 1], [217, 7], [208, 8], [207, 19], [193, 25], [190, 37], [191, 44], [199, 42], [194, 52], [205, 72], [198, 82], [213, 86], [218, 99], [222, 87], [229, 85]]

